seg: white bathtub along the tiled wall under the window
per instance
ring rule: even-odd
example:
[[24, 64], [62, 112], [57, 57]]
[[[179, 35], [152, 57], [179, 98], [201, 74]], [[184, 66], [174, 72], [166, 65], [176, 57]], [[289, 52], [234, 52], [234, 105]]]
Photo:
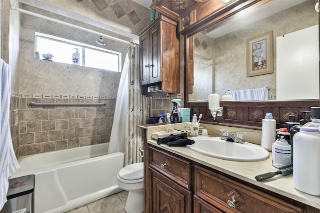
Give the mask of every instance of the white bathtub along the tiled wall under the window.
[[124, 154], [108, 143], [20, 157], [10, 178], [34, 174], [34, 213], [63, 213], [121, 192], [116, 174]]

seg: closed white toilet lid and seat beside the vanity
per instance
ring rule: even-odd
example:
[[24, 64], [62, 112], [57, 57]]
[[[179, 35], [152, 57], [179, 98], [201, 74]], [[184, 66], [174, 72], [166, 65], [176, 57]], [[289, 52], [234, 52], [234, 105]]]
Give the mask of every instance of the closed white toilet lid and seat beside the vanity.
[[123, 167], [118, 172], [117, 179], [122, 183], [143, 182], [143, 163], [134, 163]]

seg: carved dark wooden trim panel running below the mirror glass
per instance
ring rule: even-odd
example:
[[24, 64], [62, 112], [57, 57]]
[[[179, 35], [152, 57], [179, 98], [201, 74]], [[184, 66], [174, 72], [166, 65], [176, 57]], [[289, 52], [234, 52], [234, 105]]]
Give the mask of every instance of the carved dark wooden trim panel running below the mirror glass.
[[[186, 99], [186, 98], [184, 98]], [[319, 106], [320, 100], [289, 100], [289, 101], [222, 101], [220, 107], [222, 117], [213, 120], [208, 109], [208, 102], [184, 103], [190, 108], [190, 115], [202, 113], [201, 123], [216, 124], [230, 127], [243, 127], [261, 130], [265, 113], [272, 113], [276, 127], [285, 127], [289, 115], [299, 115], [301, 111], [310, 111], [311, 106]], [[301, 118], [301, 117], [300, 117]], [[307, 115], [309, 119], [309, 114]]]

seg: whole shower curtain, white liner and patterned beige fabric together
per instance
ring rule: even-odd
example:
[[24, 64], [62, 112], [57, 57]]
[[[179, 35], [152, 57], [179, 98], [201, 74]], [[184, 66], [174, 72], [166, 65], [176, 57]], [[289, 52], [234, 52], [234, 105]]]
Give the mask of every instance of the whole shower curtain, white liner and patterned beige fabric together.
[[125, 151], [125, 166], [142, 161], [139, 156], [142, 130], [137, 125], [146, 124], [148, 118], [147, 97], [140, 91], [138, 60], [138, 47], [129, 46], [119, 82], [109, 143], [109, 153]]

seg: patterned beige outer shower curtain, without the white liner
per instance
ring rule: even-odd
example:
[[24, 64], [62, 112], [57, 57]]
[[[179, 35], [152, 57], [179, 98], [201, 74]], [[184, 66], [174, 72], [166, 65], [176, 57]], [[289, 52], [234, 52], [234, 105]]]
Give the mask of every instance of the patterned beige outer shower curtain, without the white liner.
[[137, 126], [146, 124], [148, 118], [148, 98], [141, 95], [138, 47], [128, 47], [128, 114], [125, 130], [125, 166], [142, 162], [139, 149], [143, 149], [142, 129]]

